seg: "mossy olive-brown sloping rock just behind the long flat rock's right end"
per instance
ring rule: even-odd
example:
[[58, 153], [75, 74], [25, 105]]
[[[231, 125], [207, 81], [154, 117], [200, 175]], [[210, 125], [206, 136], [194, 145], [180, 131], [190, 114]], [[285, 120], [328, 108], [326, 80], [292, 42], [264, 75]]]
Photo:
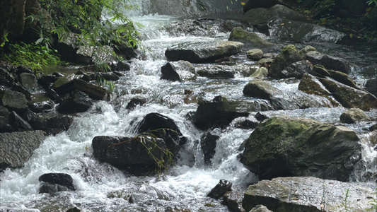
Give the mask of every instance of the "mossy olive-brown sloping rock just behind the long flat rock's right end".
[[250, 33], [240, 27], [233, 28], [228, 40], [248, 43], [248, 45], [253, 47], [271, 47], [273, 45], [256, 33]]

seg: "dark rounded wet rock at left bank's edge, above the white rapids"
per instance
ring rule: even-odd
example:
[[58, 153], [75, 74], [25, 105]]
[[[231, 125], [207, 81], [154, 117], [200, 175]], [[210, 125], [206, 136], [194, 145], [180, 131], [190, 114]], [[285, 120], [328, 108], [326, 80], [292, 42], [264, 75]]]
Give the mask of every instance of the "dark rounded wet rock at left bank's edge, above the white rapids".
[[86, 93], [75, 91], [68, 98], [60, 102], [57, 111], [63, 114], [86, 112], [92, 105], [93, 102], [91, 102]]

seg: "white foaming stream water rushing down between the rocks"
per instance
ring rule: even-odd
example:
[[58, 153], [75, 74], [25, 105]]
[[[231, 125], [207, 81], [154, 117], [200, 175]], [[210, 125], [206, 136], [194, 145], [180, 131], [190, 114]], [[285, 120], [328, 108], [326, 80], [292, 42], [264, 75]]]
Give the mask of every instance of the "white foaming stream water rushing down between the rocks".
[[[177, 8], [174, 13], [168, 14], [157, 14], [157, 8], [151, 8], [153, 2], [155, 1], [139, 1], [140, 11], [129, 13], [132, 20], [144, 25], [144, 28], [139, 29], [144, 53], [132, 60], [131, 71], [117, 81], [112, 100], [95, 103], [90, 111], [78, 114], [74, 118], [74, 123], [68, 131], [47, 137], [23, 168], [8, 169], [1, 173], [1, 209], [66, 211], [77, 206], [83, 211], [169, 211], [174, 208], [190, 211], [228, 211], [220, 201], [206, 197], [219, 179], [227, 179], [238, 187], [247, 187], [257, 182], [257, 176], [243, 167], [237, 158], [241, 153], [240, 144], [250, 136], [252, 130], [236, 128], [234, 123], [237, 120], [226, 129], [216, 129], [220, 135], [220, 139], [216, 141], [216, 153], [211, 159], [211, 165], [204, 165], [199, 144], [204, 131], [195, 128], [187, 119], [187, 114], [197, 109], [198, 98], [211, 100], [217, 95], [223, 95], [231, 100], [247, 101], [248, 98], [243, 96], [242, 90], [250, 78], [242, 76], [241, 71], [236, 71], [236, 78], [226, 80], [203, 77], [185, 83], [160, 80], [161, 66], [167, 62], [164, 56], [167, 47], [181, 42], [227, 40], [230, 32], [219, 30], [217, 22], [204, 33], [185, 33], [176, 29], [177, 25], [194, 20], [187, 18], [187, 15], [204, 13], [199, 0], [185, 1], [184, 3], [190, 3], [190, 6], [184, 10]], [[168, 2], [170, 1], [166, 1], [165, 4]], [[209, 7], [216, 8], [214, 5]], [[228, 6], [228, 9], [230, 8], [231, 6]], [[208, 13], [224, 12], [226, 6], [217, 9], [218, 11], [211, 10]], [[236, 11], [235, 6], [231, 9]], [[266, 38], [277, 42], [274, 37]], [[296, 45], [303, 47], [306, 44]], [[357, 64], [354, 68], [356, 72], [361, 69], [360, 67], [367, 66], [371, 59], [376, 58], [375, 54], [371, 55], [363, 48], [356, 50], [334, 44], [311, 45], [326, 51], [327, 54], [333, 53], [335, 56], [353, 61]], [[253, 64], [244, 55], [233, 58], [237, 62], [232, 69], [242, 69], [245, 64]], [[195, 66], [211, 67], [214, 64]], [[296, 89], [298, 83], [272, 81], [272, 84], [283, 90], [286, 95], [306, 95]], [[184, 90], [191, 90], [193, 97], [187, 98]], [[147, 103], [134, 110], [127, 110], [127, 103], [134, 97], [146, 98]], [[320, 100], [322, 99], [318, 99]], [[267, 116], [290, 115], [340, 124], [339, 117], [344, 111], [343, 107], [312, 107], [264, 113]], [[94, 136], [134, 136], [137, 124], [150, 112], [158, 112], [173, 119], [182, 134], [187, 137], [188, 141], [182, 146], [173, 167], [160, 176], [134, 177], [93, 158], [91, 141]], [[255, 113], [251, 112], [251, 115]], [[371, 110], [367, 114], [376, 117], [376, 110]], [[363, 160], [366, 160], [366, 163], [355, 170], [353, 179], [361, 182], [365, 181], [361, 177], [365, 172], [376, 172], [377, 157], [377, 152], [366, 143], [369, 134], [363, 130], [364, 124], [368, 123], [347, 125], [357, 132], [364, 143]], [[38, 177], [49, 172], [64, 172], [71, 175], [77, 190], [60, 192], [56, 196], [38, 194]], [[134, 203], [129, 203], [130, 195]]]

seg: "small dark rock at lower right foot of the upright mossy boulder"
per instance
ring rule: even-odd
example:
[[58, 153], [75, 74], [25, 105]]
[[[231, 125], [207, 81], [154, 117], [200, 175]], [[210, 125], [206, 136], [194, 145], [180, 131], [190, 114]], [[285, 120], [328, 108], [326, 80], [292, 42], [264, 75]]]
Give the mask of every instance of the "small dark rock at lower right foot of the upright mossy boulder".
[[302, 78], [304, 73], [311, 73], [313, 70], [313, 65], [310, 61], [301, 60], [296, 61], [293, 64], [287, 66], [284, 70], [279, 72], [278, 78]]

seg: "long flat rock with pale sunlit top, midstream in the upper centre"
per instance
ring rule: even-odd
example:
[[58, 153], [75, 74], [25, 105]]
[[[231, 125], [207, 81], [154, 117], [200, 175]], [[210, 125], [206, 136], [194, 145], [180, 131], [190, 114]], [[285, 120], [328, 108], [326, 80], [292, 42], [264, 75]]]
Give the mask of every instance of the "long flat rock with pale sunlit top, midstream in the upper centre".
[[166, 49], [165, 56], [170, 61], [185, 60], [193, 63], [213, 62], [221, 57], [237, 54], [243, 43], [233, 41], [188, 42]]

